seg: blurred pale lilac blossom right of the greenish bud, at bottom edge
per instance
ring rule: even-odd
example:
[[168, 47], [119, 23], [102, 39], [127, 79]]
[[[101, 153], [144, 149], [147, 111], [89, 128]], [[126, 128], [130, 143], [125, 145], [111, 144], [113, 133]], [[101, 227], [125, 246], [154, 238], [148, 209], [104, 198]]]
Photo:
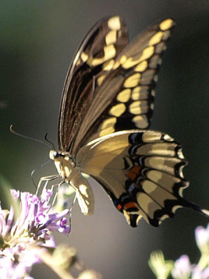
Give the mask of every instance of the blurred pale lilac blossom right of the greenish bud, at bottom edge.
[[174, 268], [171, 274], [174, 279], [189, 279], [192, 272], [192, 265], [189, 262], [187, 255], [181, 256], [174, 263]]

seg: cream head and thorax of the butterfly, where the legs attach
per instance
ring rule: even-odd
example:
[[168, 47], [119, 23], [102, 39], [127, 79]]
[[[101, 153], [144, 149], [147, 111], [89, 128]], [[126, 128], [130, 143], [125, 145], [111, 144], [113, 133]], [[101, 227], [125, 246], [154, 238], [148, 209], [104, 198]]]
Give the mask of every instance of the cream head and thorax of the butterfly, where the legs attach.
[[70, 181], [70, 174], [72, 173], [73, 167], [75, 167], [70, 153], [51, 150], [49, 152], [49, 158], [54, 160], [59, 175], [65, 179], [65, 181]]

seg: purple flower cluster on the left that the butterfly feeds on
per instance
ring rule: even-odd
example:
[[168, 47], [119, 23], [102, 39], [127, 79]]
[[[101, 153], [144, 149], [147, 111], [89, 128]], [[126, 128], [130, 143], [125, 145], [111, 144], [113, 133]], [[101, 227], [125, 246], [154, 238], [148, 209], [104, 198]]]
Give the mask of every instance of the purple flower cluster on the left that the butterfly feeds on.
[[0, 272], [2, 279], [31, 278], [31, 266], [42, 262], [36, 249], [55, 248], [52, 232], [70, 233], [69, 210], [49, 213], [52, 190], [44, 188], [40, 199], [28, 192], [10, 190], [10, 211], [0, 205]]

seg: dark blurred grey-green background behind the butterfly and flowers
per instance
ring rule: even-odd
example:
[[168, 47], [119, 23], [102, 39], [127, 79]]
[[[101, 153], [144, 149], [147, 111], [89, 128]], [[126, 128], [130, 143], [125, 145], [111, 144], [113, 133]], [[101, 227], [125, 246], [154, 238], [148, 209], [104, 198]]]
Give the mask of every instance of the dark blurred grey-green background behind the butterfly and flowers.
[[[208, 48], [209, 2], [196, 1], [102, 1], [102, 0], [7, 0], [0, 3], [0, 163], [1, 174], [13, 187], [35, 191], [32, 169], [48, 158], [42, 144], [10, 133], [15, 130], [56, 142], [57, 120], [65, 74], [77, 46], [95, 22], [105, 15], [121, 15], [130, 30], [130, 40], [148, 25], [164, 17], [176, 19], [176, 29], [164, 54], [152, 129], [168, 133], [183, 144], [190, 181], [185, 197], [209, 208], [208, 176]], [[56, 173], [53, 164], [36, 173]], [[148, 268], [150, 252], [161, 249], [167, 259], [199, 257], [194, 229], [207, 218], [180, 209], [173, 220], [159, 228], [143, 220], [129, 227], [102, 188], [93, 183], [95, 214], [85, 217], [76, 205], [72, 233], [57, 235], [77, 248], [87, 267], [104, 278], [154, 278]], [[42, 278], [44, 266], [33, 269]], [[45, 276], [47, 278], [47, 276]], [[57, 278], [49, 272], [48, 278]]]

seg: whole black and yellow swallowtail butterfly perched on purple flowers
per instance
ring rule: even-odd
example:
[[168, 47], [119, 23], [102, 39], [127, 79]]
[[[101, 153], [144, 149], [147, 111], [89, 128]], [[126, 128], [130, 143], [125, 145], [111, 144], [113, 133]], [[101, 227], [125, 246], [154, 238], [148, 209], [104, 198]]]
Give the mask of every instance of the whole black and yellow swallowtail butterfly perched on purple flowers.
[[82, 213], [94, 211], [88, 177], [98, 181], [127, 223], [158, 226], [178, 207], [208, 211], [183, 199], [189, 186], [181, 146], [148, 130], [162, 54], [175, 22], [161, 20], [128, 44], [119, 16], [87, 33], [68, 70], [59, 115], [59, 176], [76, 192]]

